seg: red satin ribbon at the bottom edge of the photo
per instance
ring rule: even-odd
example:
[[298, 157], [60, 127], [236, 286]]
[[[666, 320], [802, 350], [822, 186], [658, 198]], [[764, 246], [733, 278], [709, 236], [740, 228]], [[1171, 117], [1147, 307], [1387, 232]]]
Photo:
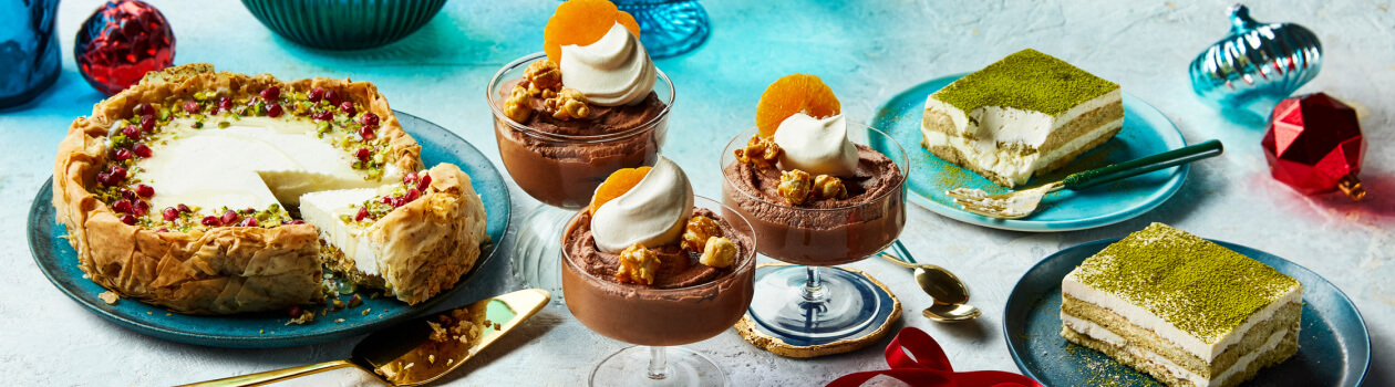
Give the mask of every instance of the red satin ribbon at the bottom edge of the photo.
[[[910, 354], [907, 354], [910, 351]], [[914, 358], [912, 358], [914, 356]], [[1043, 387], [1036, 380], [1002, 370], [954, 372], [935, 338], [919, 329], [905, 327], [886, 347], [887, 370], [845, 374], [827, 387], [858, 387], [879, 374], [890, 376], [917, 387]]]

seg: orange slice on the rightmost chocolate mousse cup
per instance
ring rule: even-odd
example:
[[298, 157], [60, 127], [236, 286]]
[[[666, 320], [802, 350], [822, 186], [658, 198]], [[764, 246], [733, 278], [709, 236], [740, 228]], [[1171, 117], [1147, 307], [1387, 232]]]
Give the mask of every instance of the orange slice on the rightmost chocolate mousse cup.
[[780, 128], [780, 123], [795, 113], [827, 118], [838, 111], [838, 97], [819, 77], [790, 74], [776, 79], [760, 95], [760, 103], [756, 104], [756, 128], [760, 128], [762, 136], [770, 136]]

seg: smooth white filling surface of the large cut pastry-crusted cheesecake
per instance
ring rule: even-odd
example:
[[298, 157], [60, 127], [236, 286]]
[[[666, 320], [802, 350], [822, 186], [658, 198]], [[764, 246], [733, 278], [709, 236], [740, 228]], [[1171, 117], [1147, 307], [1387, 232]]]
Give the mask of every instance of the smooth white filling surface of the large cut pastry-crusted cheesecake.
[[[180, 203], [216, 209], [265, 209], [271, 203], [296, 205], [300, 194], [377, 187], [353, 168], [347, 152], [315, 136], [314, 123], [244, 117], [227, 128], [177, 118], [163, 131], [149, 159], [137, 161], [141, 180], [155, 187], [152, 209]], [[388, 166], [384, 181], [402, 173]]]

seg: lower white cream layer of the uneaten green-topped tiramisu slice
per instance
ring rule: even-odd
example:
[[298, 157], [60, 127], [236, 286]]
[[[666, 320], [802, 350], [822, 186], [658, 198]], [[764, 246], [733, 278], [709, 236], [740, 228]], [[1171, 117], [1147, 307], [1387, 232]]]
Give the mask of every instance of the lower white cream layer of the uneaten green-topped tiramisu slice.
[[1274, 348], [1278, 348], [1279, 344], [1283, 342], [1283, 335], [1286, 335], [1289, 333], [1289, 330], [1275, 331], [1274, 334], [1269, 335], [1268, 340], [1264, 341], [1264, 345], [1260, 345], [1260, 348], [1254, 349], [1250, 354], [1244, 354], [1244, 356], [1240, 356], [1239, 359], [1236, 359], [1235, 365], [1232, 365], [1230, 368], [1228, 368], [1221, 374], [1216, 374], [1216, 377], [1208, 380], [1207, 377], [1201, 376], [1200, 373], [1191, 372], [1191, 370], [1189, 370], [1189, 369], [1186, 369], [1186, 368], [1183, 368], [1183, 366], [1172, 362], [1166, 356], [1162, 356], [1162, 355], [1158, 355], [1156, 352], [1149, 351], [1148, 348], [1131, 345], [1127, 338], [1115, 334], [1113, 331], [1110, 331], [1106, 327], [1102, 327], [1099, 324], [1095, 324], [1095, 323], [1091, 323], [1091, 322], [1087, 322], [1087, 320], [1083, 320], [1083, 319], [1078, 319], [1076, 316], [1066, 315], [1066, 313], [1060, 315], [1060, 320], [1067, 327], [1070, 327], [1071, 330], [1074, 330], [1074, 331], [1077, 331], [1080, 334], [1084, 334], [1084, 335], [1088, 335], [1091, 338], [1108, 342], [1109, 345], [1115, 345], [1115, 347], [1123, 348], [1124, 351], [1127, 351], [1134, 358], [1140, 358], [1140, 359], [1143, 359], [1143, 361], [1145, 361], [1148, 363], [1159, 365], [1163, 369], [1166, 369], [1169, 373], [1172, 373], [1173, 377], [1191, 381], [1191, 384], [1196, 384], [1197, 387], [1207, 387], [1207, 386], [1211, 386], [1211, 384], [1221, 384], [1226, 379], [1230, 379], [1236, 373], [1239, 373], [1239, 372], [1250, 368], [1250, 365], [1254, 363], [1254, 361], [1257, 361], [1261, 355], [1264, 355], [1265, 352], [1274, 351]]

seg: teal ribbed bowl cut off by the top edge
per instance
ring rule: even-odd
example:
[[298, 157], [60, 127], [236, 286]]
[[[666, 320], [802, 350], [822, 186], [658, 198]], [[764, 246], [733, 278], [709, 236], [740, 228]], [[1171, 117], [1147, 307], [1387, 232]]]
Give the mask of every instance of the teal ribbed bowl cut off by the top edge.
[[421, 29], [445, 0], [243, 0], [266, 28], [315, 49], [360, 50]]

